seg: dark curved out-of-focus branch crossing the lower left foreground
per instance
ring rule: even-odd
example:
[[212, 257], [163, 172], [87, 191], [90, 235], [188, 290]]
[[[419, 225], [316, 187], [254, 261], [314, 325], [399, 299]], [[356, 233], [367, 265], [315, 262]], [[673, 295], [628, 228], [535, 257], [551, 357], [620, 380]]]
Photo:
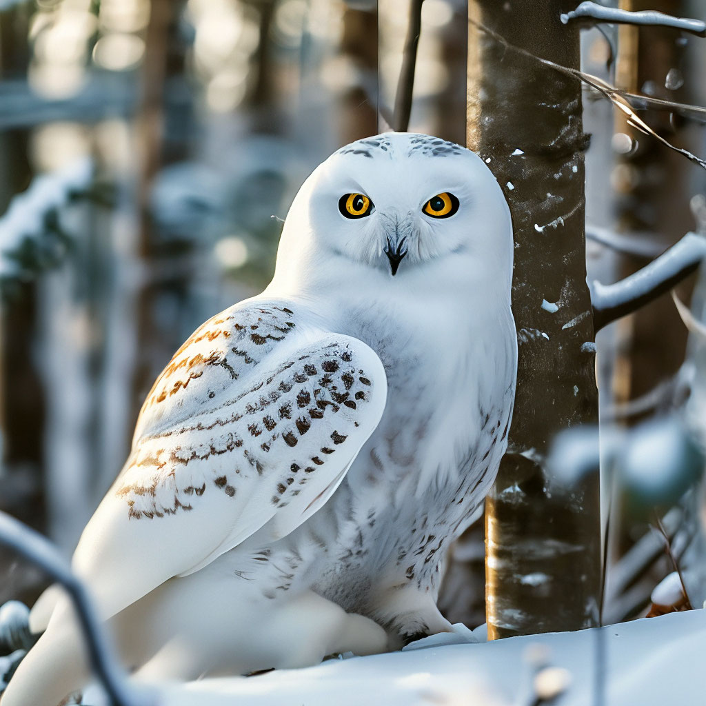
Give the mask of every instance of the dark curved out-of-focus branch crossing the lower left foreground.
[[83, 583], [73, 574], [64, 558], [41, 534], [19, 520], [0, 511], [0, 544], [36, 564], [52, 580], [61, 584], [76, 609], [76, 616], [85, 635], [90, 662], [114, 706], [150, 706], [145, 693], [128, 685], [124, 674], [112, 657], [100, 623], [93, 610]]

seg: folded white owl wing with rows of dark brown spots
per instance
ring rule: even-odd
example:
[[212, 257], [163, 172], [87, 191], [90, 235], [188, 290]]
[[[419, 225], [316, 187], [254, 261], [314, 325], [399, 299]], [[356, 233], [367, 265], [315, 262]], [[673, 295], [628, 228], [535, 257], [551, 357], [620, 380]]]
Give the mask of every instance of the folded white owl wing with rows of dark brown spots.
[[377, 355], [285, 304], [215, 316], [157, 378], [73, 558], [102, 618], [258, 530], [265, 541], [292, 532], [376, 428], [387, 390]]

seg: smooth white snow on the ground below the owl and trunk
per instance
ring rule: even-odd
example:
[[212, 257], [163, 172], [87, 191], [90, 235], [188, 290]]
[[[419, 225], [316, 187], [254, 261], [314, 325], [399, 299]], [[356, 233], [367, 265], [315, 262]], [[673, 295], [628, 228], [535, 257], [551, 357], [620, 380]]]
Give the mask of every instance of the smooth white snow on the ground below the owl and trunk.
[[[603, 700], [596, 691], [599, 638]], [[525, 706], [535, 701], [541, 674], [545, 688], [568, 681], [556, 706], [701, 706], [705, 650], [706, 611], [686, 611], [600, 630], [419, 645], [250, 678], [162, 684], [157, 695], [164, 706]]]

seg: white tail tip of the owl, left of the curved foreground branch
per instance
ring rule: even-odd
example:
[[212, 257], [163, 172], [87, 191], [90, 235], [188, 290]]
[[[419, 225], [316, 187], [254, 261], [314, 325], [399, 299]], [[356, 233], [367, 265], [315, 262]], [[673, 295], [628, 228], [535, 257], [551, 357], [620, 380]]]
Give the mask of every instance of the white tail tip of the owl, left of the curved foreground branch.
[[89, 678], [88, 653], [76, 621], [68, 614], [55, 616], [20, 662], [0, 706], [57, 706]]

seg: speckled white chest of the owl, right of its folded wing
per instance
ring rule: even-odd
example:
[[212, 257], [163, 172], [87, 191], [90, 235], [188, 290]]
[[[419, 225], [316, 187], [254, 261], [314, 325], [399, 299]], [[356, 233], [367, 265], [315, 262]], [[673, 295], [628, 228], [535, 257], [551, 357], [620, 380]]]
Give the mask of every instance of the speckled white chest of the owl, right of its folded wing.
[[462, 328], [462, 316], [441, 317], [405, 325], [391, 316], [351, 332], [376, 351], [388, 382], [383, 417], [330, 506], [350, 518], [332, 556], [351, 586], [359, 576], [435, 587], [449, 543], [496, 474], [510, 412], [510, 366], [494, 367], [505, 342]]

